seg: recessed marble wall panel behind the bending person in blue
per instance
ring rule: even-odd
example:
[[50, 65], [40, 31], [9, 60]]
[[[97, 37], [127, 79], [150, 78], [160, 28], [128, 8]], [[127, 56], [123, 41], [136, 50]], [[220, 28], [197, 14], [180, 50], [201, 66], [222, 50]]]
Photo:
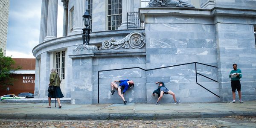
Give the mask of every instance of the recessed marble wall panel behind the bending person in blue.
[[[98, 103], [98, 71], [128, 67], [145, 69], [145, 55], [109, 56], [93, 58], [93, 103]], [[133, 80], [124, 98], [128, 103], [146, 103], [146, 72], [139, 68], [99, 72], [99, 103], [123, 103], [117, 90], [111, 95], [111, 82]], [[116, 82], [119, 84], [119, 82]]]

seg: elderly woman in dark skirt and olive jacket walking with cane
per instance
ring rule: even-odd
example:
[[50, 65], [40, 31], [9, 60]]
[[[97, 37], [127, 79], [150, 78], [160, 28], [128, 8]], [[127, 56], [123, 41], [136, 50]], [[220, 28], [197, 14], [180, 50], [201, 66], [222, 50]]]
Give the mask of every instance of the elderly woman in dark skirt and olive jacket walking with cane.
[[50, 83], [49, 86], [53, 86], [53, 92], [48, 93], [48, 103], [49, 106], [46, 108], [51, 108], [51, 98], [57, 98], [58, 101], [58, 108], [61, 108], [61, 102], [60, 98], [64, 97], [62, 92], [61, 92], [61, 79], [57, 74], [57, 70], [55, 68], [52, 68], [50, 74]]

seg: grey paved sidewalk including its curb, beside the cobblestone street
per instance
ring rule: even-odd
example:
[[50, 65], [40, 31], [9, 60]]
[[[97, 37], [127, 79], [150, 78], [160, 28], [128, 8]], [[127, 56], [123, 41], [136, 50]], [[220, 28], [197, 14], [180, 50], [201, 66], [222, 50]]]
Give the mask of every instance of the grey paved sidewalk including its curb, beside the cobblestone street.
[[244, 103], [180, 103], [175, 104], [92, 104], [70, 105], [62, 108], [45, 108], [47, 103], [4, 103], [0, 102], [0, 118], [4, 119], [171, 119], [210, 118], [232, 115], [256, 116], [256, 101]]

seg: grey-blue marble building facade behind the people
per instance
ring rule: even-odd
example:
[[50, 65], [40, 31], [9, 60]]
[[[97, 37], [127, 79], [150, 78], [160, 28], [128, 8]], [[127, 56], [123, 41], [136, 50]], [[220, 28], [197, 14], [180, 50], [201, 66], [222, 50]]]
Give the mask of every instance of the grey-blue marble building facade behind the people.
[[[237, 63], [242, 99], [256, 99], [256, 1], [142, 7], [148, 1], [62, 0], [63, 37], [56, 38], [57, 0], [42, 0], [40, 41], [33, 49], [35, 97], [47, 98], [49, 70], [56, 67], [72, 104], [122, 103], [110, 87], [121, 79], [135, 82], [125, 93], [128, 103], [156, 102], [156, 81], [165, 82], [179, 102], [226, 102], [232, 100], [228, 75]], [[90, 46], [81, 45], [86, 9], [92, 15]], [[133, 25], [127, 12], [139, 12], [144, 27], [127, 29]], [[172, 96], [161, 102], [173, 102]]]

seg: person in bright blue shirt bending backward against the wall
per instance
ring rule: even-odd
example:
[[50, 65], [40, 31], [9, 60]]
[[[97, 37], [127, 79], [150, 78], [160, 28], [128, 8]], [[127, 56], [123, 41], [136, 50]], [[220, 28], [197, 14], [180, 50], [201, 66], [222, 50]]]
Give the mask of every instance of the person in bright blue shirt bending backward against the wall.
[[[117, 85], [116, 82], [120, 82], [120, 84]], [[133, 87], [134, 87], [134, 82], [133, 82], [133, 81], [130, 81], [130, 80], [128, 80], [128, 79], [111, 82], [111, 94], [112, 94], [112, 95], [115, 93], [114, 87], [117, 89], [118, 95], [123, 99], [124, 104], [126, 105], [127, 101], [125, 101], [125, 98], [124, 98], [123, 95], [124, 95], [124, 93], [128, 90], [129, 87], [130, 87], [130, 88], [133, 88]], [[122, 90], [122, 89], [123, 89], [123, 91], [122, 91], [122, 94], [121, 94], [121, 90]]]

